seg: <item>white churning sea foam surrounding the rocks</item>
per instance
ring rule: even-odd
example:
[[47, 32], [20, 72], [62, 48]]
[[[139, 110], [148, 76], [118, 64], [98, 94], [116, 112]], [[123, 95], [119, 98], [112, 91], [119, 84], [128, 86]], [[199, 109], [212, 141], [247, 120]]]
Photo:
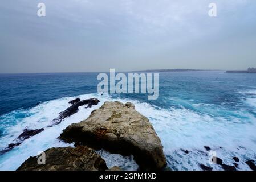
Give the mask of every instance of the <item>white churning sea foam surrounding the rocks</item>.
[[[25, 140], [21, 146], [2, 155], [0, 157], [0, 169], [14, 170], [29, 156], [37, 155], [38, 151], [44, 151], [50, 147], [70, 146], [70, 144], [59, 142], [56, 139], [62, 130], [71, 123], [86, 119], [92, 110], [99, 108], [105, 101], [130, 101], [135, 104], [137, 111], [149, 118], [164, 146], [168, 166], [172, 169], [200, 170], [198, 164], [207, 164], [209, 159], [208, 154], [205, 155], [204, 153], [206, 152], [204, 146], [210, 146], [226, 164], [232, 164], [233, 156], [238, 156], [243, 160], [255, 158], [256, 119], [254, 115], [246, 111], [234, 112], [239, 117], [224, 118], [196, 113], [185, 108], [161, 109], [136, 100], [113, 99], [105, 94], [86, 94], [78, 97], [81, 99], [96, 97], [99, 98], [100, 103], [90, 109], [84, 109], [84, 106], [79, 107], [78, 113], [64, 119], [59, 125], [47, 128], [42, 133]], [[47, 126], [52, 119], [58, 117], [60, 111], [70, 106], [68, 101], [73, 98], [75, 97], [44, 102], [28, 110], [27, 112], [31, 115], [19, 121], [17, 125], [10, 127], [10, 134], [1, 138], [1, 147], [3, 144], [6, 146], [17, 137], [24, 127], [36, 129]], [[185, 154], [181, 148], [190, 151], [189, 154]], [[99, 154], [106, 160], [108, 167], [120, 166], [128, 170], [137, 168], [137, 164], [131, 156], [124, 157], [105, 151], [99, 151]], [[217, 165], [211, 164], [211, 166], [214, 169], [221, 169]], [[247, 170], [249, 167], [241, 162], [238, 169]]]

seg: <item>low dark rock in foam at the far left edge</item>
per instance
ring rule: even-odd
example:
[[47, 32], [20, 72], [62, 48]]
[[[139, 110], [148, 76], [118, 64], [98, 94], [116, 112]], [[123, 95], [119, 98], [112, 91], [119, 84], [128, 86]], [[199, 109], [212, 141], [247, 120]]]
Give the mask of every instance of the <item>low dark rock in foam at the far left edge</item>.
[[9, 152], [10, 150], [12, 150], [14, 147], [19, 146], [20, 144], [22, 144], [22, 142], [40, 132], [42, 132], [44, 129], [35, 129], [35, 130], [31, 130], [31, 129], [24, 129], [22, 134], [20, 134], [15, 140], [15, 143], [10, 143], [8, 145], [8, 147], [6, 147], [4, 150], [0, 151], [0, 154], [5, 154], [6, 152]]

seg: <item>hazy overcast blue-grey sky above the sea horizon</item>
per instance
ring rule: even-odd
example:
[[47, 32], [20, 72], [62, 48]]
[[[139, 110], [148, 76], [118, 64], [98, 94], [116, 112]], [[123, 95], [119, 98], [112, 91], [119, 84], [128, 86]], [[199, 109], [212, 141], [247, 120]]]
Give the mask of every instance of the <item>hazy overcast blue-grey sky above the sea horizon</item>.
[[[41, 2], [45, 17], [37, 15]], [[249, 67], [256, 67], [255, 0], [0, 3], [0, 73]]]

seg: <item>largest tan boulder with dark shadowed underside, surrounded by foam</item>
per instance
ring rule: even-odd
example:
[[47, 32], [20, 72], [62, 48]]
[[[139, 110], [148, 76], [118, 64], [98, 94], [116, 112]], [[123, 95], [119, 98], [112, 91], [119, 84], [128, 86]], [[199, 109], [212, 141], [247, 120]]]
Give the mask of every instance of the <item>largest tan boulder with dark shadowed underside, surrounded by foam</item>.
[[143, 170], [166, 166], [159, 137], [148, 118], [138, 113], [131, 102], [105, 102], [86, 120], [63, 130], [59, 139], [122, 155], [132, 154]]

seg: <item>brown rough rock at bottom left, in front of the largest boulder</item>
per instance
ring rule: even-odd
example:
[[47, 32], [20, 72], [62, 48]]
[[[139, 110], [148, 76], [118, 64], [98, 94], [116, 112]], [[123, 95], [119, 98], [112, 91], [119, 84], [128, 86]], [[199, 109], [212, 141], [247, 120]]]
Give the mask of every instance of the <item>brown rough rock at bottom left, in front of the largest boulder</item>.
[[103, 171], [108, 169], [105, 160], [92, 148], [50, 148], [44, 151], [45, 164], [38, 164], [38, 158], [30, 157], [17, 171]]

